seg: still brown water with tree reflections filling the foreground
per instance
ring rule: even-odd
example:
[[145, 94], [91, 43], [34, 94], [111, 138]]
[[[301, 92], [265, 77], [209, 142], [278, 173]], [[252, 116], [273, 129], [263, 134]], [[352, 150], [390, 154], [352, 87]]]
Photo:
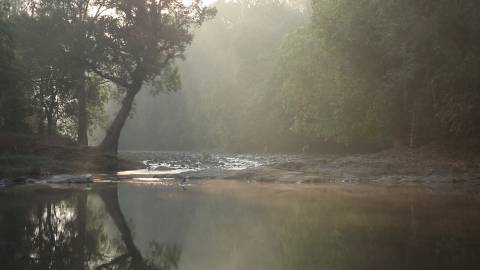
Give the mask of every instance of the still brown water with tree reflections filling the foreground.
[[480, 269], [480, 197], [196, 181], [0, 192], [0, 269]]

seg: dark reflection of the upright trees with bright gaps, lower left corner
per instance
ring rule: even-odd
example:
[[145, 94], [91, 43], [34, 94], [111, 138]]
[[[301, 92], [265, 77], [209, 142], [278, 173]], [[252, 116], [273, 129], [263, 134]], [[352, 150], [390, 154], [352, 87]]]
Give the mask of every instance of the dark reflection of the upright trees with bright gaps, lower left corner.
[[96, 241], [85, 246], [96, 238], [85, 230], [86, 192], [26, 191], [2, 199], [13, 204], [2, 211], [2, 269], [85, 269], [99, 256]]

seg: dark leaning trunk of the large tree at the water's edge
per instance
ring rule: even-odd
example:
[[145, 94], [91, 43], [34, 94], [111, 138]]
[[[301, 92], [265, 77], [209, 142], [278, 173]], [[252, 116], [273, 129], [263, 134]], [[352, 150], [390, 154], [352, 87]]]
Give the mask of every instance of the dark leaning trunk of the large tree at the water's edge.
[[105, 134], [105, 138], [103, 139], [102, 143], [100, 144], [100, 149], [110, 155], [117, 155], [118, 151], [118, 141], [120, 139], [120, 132], [122, 131], [123, 126], [125, 125], [125, 121], [130, 114], [132, 109], [133, 100], [135, 96], [142, 88], [142, 82], [135, 83], [127, 90], [127, 94], [123, 98], [122, 107], [118, 112], [115, 120], [113, 120], [110, 127], [107, 129]]

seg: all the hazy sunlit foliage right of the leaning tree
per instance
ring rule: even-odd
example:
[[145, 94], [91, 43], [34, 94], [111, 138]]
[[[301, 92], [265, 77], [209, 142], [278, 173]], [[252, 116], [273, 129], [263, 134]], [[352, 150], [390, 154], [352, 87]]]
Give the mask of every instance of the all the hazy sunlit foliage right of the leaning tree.
[[139, 130], [161, 148], [233, 151], [480, 135], [475, 1], [314, 0], [304, 25], [276, 1], [216, 6], [181, 65], [183, 93], [139, 110], [152, 117], [129, 124], [129, 147]]

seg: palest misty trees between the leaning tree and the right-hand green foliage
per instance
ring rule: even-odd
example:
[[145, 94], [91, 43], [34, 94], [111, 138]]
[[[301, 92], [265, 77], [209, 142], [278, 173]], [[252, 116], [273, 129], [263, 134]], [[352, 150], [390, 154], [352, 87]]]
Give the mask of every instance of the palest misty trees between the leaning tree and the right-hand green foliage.
[[[283, 37], [306, 19], [276, 0], [219, 1], [178, 61], [182, 89], [135, 99], [122, 131], [126, 149], [288, 151], [288, 128], [270, 84]], [[273, 97], [273, 98], [272, 98]], [[275, 140], [272, 140], [272, 136]]]

